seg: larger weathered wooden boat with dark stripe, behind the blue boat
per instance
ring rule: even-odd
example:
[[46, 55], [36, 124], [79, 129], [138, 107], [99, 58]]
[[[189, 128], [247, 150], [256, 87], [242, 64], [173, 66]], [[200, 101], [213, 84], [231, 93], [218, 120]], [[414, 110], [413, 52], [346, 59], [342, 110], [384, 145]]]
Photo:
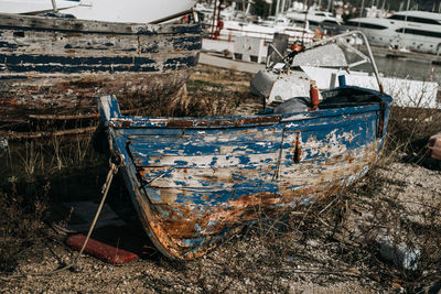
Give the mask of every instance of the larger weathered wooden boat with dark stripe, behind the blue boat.
[[201, 42], [196, 23], [0, 13], [0, 133], [97, 119], [96, 98], [107, 94], [118, 94], [125, 111], [172, 105], [168, 99], [183, 92]]

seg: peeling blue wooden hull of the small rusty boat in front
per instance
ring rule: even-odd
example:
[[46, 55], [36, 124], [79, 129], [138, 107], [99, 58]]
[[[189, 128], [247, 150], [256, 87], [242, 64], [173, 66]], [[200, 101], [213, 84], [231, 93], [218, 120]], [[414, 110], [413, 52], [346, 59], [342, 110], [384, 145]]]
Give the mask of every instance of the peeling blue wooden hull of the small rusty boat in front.
[[121, 117], [114, 96], [100, 106], [147, 232], [165, 255], [191, 260], [246, 222], [363, 176], [383, 148], [391, 101], [368, 92], [358, 106], [331, 95], [321, 110], [280, 116]]

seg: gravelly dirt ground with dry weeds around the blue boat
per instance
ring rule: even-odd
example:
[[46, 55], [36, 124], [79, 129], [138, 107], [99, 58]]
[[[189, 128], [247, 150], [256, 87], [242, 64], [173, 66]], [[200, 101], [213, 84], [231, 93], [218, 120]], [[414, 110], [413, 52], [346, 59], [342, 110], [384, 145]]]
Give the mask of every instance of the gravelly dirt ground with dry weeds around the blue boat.
[[[248, 83], [245, 74], [204, 68], [196, 69], [187, 88], [194, 97], [212, 94], [206, 101], [211, 115], [233, 113], [239, 105], [240, 111], [257, 112], [260, 105], [249, 96]], [[217, 105], [223, 96], [228, 104]], [[189, 107], [196, 115], [202, 109]], [[0, 293], [438, 293], [441, 166], [420, 159], [384, 156], [352, 187], [246, 226], [192, 262], [171, 261], [148, 248], [141, 259], [122, 265], [84, 255], [73, 270], [34, 276], [77, 254], [65, 244], [68, 235], [45, 220], [41, 238], [17, 253], [12, 269], [0, 271], [0, 277], [24, 276], [0, 280]], [[96, 182], [103, 183], [103, 176]], [[110, 206], [133, 235], [146, 238], [120, 178], [112, 189], [122, 196]], [[394, 248], [418, 251], [415, 266], [404, 269], [399, 259], [381, 254], [385, 239]]]

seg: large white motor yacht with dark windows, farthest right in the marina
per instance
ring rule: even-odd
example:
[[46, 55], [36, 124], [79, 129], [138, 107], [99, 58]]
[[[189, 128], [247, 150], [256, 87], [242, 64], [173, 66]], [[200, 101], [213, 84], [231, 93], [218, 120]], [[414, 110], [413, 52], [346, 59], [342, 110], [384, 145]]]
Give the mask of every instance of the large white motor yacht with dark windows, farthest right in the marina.
[[352, 19], [345, 25], [365, 32], [373, 45], [441, 55], [441, 13], [400, 11], [385, 19]]

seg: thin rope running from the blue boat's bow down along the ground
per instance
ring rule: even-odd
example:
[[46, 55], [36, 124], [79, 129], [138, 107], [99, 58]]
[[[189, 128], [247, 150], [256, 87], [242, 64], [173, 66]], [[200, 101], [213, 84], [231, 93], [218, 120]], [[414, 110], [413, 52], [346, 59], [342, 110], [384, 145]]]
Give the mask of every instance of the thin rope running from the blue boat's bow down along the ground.
[[[120, 156], [120, 157], [121, 157], [121, 156]], [[103, 188], [101, 188], [101, 194], [103, 194], [101, 202], [100, 202], [100, 204], [99, 204], [99, 206], [98, 206], [98, 209], [97, 209], [97, 211], [96, 211], [96, 214], [95, 214], [95, 218], [94, 218], [94, 220], [92, 221], [89, 231], [87, 232], [86, 240], [84, 240], [84, 243], [83, 243], [82, 249], [79, 250], [78, 254], [76, 255], [76, 258], [75, 258], [71, 263], [64, 265], [63, 268], [60, 268], [60, 269], [57, 269], [57, 270], [54, 270], [54, 271], [35, 272], [35, 273], [22, 273], [22, 274], [9, 275], [9, 276], [0, 276], [0, 280], [1, 280], [1, 281], [4, 281], [4, 282], [9, 282], [9, 281], [11, 281], [11, 280], [13, 280], [13, 279], [20, 279], [20, 277], [25, 277], [25, 276], [52, 275], [52, 274], [56, 274], [56, 273], [66, 271], [66, 270], [68, 270], [68, 269], [75, 268], [75, 265], [78, 263], [78, 260], [80, 259], [80, 257], [82, 257], [82, 254], [83, 254], [83, 251], [86, 249], [86, 246], [87, 246], [87, 242], [89, 241], [89, 238], [90, 238], [92, 232], [94, 231], [95, 225], [96, 225], [96, 222], [97, 222], [97, 220], [98, 220], [98, 217], [99, 217], [99, 215], [100, 215], [100, 213], [101, 213], [101, 209], [103, 209], [104, 203], [105, 203], [105, 200], [106, 200], [107, 194], [109, 193], [109, 188], [110, 188], [110, 184], [111, 184], [111, 181], [112, 181], [112, 178], [114, 178], [114, 175], [117, 174], [118, 168], [119, 168], [119, 166], [122, 165], [122, 163], [123, 163], [122, 159], [119, 159], [118, 165], [115, 164], [115, 163], [111, 161], [111, 159], [109, 160], [110, 170], [109, 170], [109, 172], [107, 173], [106, 183], [103, 185]]]

